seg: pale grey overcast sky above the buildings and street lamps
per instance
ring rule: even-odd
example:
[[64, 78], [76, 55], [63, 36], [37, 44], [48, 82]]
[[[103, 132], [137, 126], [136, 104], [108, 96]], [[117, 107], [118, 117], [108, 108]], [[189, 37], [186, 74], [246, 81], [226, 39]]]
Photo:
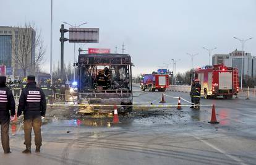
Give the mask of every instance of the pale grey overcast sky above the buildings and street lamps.
[[[16, 26], [27, 20], [41, 29], [48, 58], [43, 68], [49, 70], [51, 1], [0, 1], [0, 25]], [[110, 48], [114, 52], [117, 46], [121, 53], [124, 42], [126, 53], [135, 64], [134, 74], [150, 73], [171, 59], [181, 59], [177, 62], [177, 71], [190, 69], [190, 57], [186, 53], [199, 53], [195, 66], [206, 65], [208, 53], [202, 46], [216, 46], [218, 49], [213, 54], [227, 54], [241, 49], [233, 36], [254, 37], [245, 45], [245, 51], [256, 56], [254, 0], [53, 0], [53, 8], [53, 61], [56, 63], [60, 59], [62, 22], [77, 25], [88, 22], [83, 27], [100, 28], [100, 43], [85, 44], [83, 49]], [[74, 44], [66, 42], [64, 48], [64, 60], [72, 63]]]

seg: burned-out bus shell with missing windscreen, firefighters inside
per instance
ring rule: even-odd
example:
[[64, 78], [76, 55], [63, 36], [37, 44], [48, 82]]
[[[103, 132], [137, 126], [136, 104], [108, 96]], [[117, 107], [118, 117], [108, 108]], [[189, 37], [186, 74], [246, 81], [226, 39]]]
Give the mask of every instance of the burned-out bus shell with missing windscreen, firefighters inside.
[[[78, 66], [79, 112], [132, 111], [132, 62], [128, 54], [80, 54]], [[98, 106], [90, 106], [97, 104]], [[102, 106], [100, 106], [102, 105]], [[109, 106], [108, 106], [109, 105]]]

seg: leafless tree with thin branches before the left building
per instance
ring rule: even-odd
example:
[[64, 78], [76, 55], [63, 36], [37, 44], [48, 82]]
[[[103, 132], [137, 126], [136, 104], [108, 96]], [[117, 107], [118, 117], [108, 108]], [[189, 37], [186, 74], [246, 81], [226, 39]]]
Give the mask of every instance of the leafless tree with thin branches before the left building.
[[34, 30], [33, 27], [30, 23], [25, 23], [23, 27], [17, 27], [15, 41], [12, 41], [14, 51], [12, 59], [23, 70], [24, 77], [27, 75], [28, 69], [31, 74], [35, 74], [35, 67], [45, 62], [46, 49], [41, 39], [41, 33]]

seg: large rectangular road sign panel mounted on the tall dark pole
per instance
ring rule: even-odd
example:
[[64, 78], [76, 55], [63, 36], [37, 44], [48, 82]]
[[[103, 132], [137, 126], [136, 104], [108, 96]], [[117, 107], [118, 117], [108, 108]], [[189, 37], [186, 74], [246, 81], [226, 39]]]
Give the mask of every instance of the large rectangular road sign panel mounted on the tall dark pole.
[[99, 43], [99, 28], [69, 28], [70, 43]]

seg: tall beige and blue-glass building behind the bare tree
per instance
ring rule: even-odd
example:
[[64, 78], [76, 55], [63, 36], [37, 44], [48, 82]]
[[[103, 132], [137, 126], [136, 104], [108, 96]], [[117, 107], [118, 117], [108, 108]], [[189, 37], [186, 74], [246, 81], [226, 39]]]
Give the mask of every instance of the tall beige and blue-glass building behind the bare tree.
[[[7, 75], [23, 76], [23, 69], [20, 64], [15, 61], [17, 56], [23, 59], [23, 63], [27, 64], [27, 74], [35, 70], [35, 35], [33, 28], [29, 28], [29, 35], [25, 35], [25, 30], [28, 28], [18, 27], [0, 27], [0, 65], [6, 66]], [[25, 49], [29, 46], [29, 54], [27, 57], [21, 57], [23, 53], [19, 49]]]

